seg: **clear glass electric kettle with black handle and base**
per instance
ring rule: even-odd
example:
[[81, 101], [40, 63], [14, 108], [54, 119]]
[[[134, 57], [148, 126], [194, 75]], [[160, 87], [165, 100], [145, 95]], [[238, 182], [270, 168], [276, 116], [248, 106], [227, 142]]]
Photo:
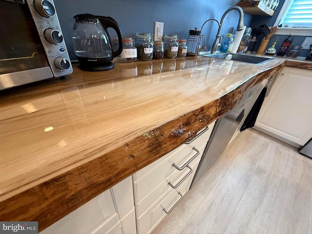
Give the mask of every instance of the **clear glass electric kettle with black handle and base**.
[[[106, 71], [114, 68], [113, 58], [122, 52], [122, 36], [117, 22], [111, 17], [80, 14], [74, 16], [74, 51], [84, 71]], [[113, 28], [119, 40], [117, 51], [107, 28]]]

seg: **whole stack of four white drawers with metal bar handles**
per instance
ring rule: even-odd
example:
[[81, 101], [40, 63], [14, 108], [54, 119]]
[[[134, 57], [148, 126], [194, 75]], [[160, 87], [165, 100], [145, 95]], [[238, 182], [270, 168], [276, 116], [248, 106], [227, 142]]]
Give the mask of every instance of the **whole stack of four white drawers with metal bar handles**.
[[214, 125], [133, 175], [138, 234], [151, 233], [189, 190]]

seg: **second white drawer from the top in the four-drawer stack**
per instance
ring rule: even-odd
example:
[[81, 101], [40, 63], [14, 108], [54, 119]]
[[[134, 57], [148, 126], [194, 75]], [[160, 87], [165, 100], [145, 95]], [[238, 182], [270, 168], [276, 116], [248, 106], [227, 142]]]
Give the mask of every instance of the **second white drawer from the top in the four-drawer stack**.
[[[198, 153], [199, 152], [199, 153]], [[179, 147], [179, 150], [175, 154], [169, 156], [166, 161], [163, 161], [156, 168], [154, 168], [150, 173], [141, 177], [134, 182], [136, 202], [140, 202], [145, 196], [152, 192], [162, 181], [167, 179], [172, 173], [178, 171], [173, 164], [175, 163], [178, 166], [181, 166], [188, 162], [191, 158], [197, 160], [201, 157], [203, 152], [193, 149], [190, 145], [182, 145]], [[194, 161], [193, 160], [193, 161]], [[187, 171], [187, 168], [184, 168]], [[184, 171], [183, 170], [183, 171]], [[183, 172], [178, 171], [178, 175], [181, 175]], [[175, 178], [172, 178], [173, 180]]]

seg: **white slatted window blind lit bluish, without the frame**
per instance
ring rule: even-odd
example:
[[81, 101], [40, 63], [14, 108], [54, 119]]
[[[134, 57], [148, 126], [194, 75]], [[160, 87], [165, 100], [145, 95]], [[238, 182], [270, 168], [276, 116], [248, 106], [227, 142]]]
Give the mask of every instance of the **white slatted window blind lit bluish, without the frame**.
[[312, 28], [312, 0], [293, 0], [283, 25], [298, 28]]

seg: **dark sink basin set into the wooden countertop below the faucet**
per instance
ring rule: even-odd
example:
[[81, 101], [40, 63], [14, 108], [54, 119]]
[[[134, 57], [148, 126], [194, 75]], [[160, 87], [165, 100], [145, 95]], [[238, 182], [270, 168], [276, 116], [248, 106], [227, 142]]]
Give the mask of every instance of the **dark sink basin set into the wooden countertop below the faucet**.
[[274, 59], [274, 58], [258, 57], [258, 56], [253, 56], [253, 55], [244, 55], [244, 54], [233, 54], [233, 53], [202, 54], [202, 56], [212, 57], [216, 59], [225, 59], [228, 55], [232, 55], [232, 59], [230, 60], [239, 61], [239, 62], [248, 62], [248, 63], [253, 63], [253, 64], [262, 64], [264, 62]]

